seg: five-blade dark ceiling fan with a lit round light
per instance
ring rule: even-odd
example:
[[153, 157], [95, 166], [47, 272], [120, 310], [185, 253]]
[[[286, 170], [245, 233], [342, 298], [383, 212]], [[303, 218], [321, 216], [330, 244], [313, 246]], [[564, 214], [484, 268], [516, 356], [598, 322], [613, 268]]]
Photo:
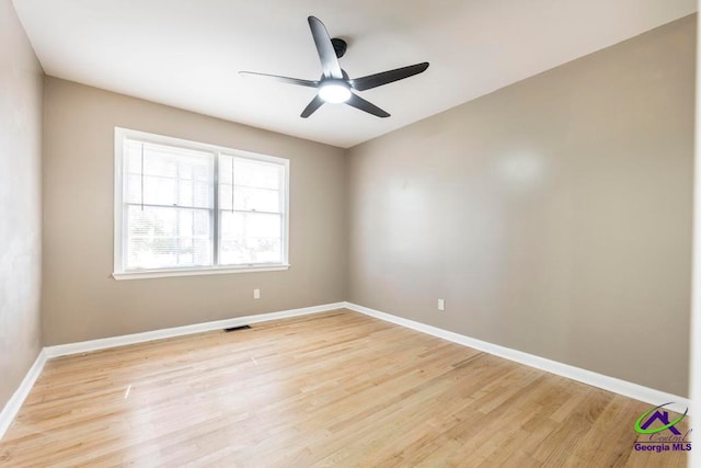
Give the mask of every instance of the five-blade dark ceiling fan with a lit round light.
[[302, 111], [300, 115], [302, 118], [309, 117], [326, 102], [331, 104], [345, 103], [378, 117], [389, 117], [390, 114], [388, 112], [381, 110], [371, 102], [364, 100], [353, 91], [365, 91], [393, 81], [403, 80], [404, 78], [418, 75], [428, 68], [428, 62], [424, 61], [422, 64], [410, 65], [394, 70], [368, 75], [363, 78], [350, 79], [338, 64], [338, 59], [343, 57], [346, 52], [346, 42], [335, 37], [332, 39], [326, 32], [324, 23], [322, 23], [318, 18], [309, 16], [307, 21], [309, 22], [311, 35], [314, 38], [319, 59], [321, 60], [322, 76], [318, 81], [279, 77], [277, 75], [256, 73], [253, 71], [239, 71], [241, 75], [263, 77], [300, 87], [317, 88], [319, 91], [314, 99], [312, 99]]

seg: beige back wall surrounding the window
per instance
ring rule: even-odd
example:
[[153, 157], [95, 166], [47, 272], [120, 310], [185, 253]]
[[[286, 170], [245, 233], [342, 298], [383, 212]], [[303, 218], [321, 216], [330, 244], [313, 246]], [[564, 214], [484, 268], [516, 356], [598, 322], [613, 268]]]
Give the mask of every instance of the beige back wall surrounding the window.
[[[44, 92], [44, 344], [345, 299], [342, 149], [55, 78]], [[288, 158], [291, 267], [113, 279], [115, 126]]]

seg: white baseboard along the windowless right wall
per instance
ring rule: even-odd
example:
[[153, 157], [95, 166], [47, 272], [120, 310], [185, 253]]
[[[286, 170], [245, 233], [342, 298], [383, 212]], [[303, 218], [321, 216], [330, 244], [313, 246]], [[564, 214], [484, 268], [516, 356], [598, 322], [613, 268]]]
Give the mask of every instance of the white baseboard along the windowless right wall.
[[655, 390], [654, 388], [643, 387], [642, 385], [621, 380], [614, 377], [609, 377], [602, 374], [597, 374], [591, 370], [582, 369], [579, 367], [559, 363], [556, 361], [547, 359], [533, 354], [524, 353], [522, 351], [512, 350], [510, 347], [499, 346], [486, 341], [476, 340], [474, 338], [439, 329], [437, 327], [427, 326], [414, 320], [404, 319], [402, 317], [397, 317], [391, 313], [381, 312], [368, 307], [358, 306], [356, 304], [346, 303], [345, 307], [347, 309], [355, 310], [356, 312], [365, 313], [380, 320], [384, 320], [410, 328], [412, 330], [441, 338], [453, 343], [462, 344], [463, 346], [473, 347], [475, 350], [483, 351], [495, 356], [504, 357], [506, 359], [525, 364], [530, 367], [536, 367], [551, 374], [590, 385], [593, 387], [602, 388], [604, 390], [623, 395], [625, 397], [644, 401], [650, 404], [658, 406], [671, 402], [673, 404], [668, 406], [667, 408], [679, 413], [683, 413], [690, 406], [690, 400], [688, 398], [679, 397], [677, 395]]

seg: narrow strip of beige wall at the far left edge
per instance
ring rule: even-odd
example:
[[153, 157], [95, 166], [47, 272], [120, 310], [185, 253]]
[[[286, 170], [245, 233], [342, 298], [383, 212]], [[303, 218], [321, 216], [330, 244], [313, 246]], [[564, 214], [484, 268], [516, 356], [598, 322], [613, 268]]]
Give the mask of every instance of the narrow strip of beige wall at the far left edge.
[[42, 76], [0, 0], [0, 411], [42, 344]]

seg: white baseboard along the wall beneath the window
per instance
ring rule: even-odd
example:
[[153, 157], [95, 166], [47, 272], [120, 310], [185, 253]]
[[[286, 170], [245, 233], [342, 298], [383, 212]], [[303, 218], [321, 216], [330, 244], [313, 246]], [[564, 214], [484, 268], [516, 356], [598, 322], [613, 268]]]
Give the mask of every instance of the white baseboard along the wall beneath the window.
[[214, 322], [195, 323], [192, 326], [175, 327], [162, 330], [147, 331], [142, 333], [125, 334], [120, 336], [103, 338], [100, 340], [81, 341], [78, 343], [59, 344], [44, 349], [48, 358], [81, 354], [91, 351], [106, 350], [108, 347], [125, 346], [127, 344], [145, 343], [147, 341], [162, 340], [164, 338], [182, 336], [185, 334], [202, 333], [212, 330], [221, 330], [230, 327], [241, 327], [249, 323], [267, 322], [271, 320], [286, 319], [289, 317], [306, 316], [309, 313], [325, 312], [327, 310], [342, 309], [345, 303], [325, 304], [323, 306], [303, 307], [301, 309], [283, 310], [279, 312], [258, 313], [255, 316], [237, 317], [233, 319], [217, 320]]

